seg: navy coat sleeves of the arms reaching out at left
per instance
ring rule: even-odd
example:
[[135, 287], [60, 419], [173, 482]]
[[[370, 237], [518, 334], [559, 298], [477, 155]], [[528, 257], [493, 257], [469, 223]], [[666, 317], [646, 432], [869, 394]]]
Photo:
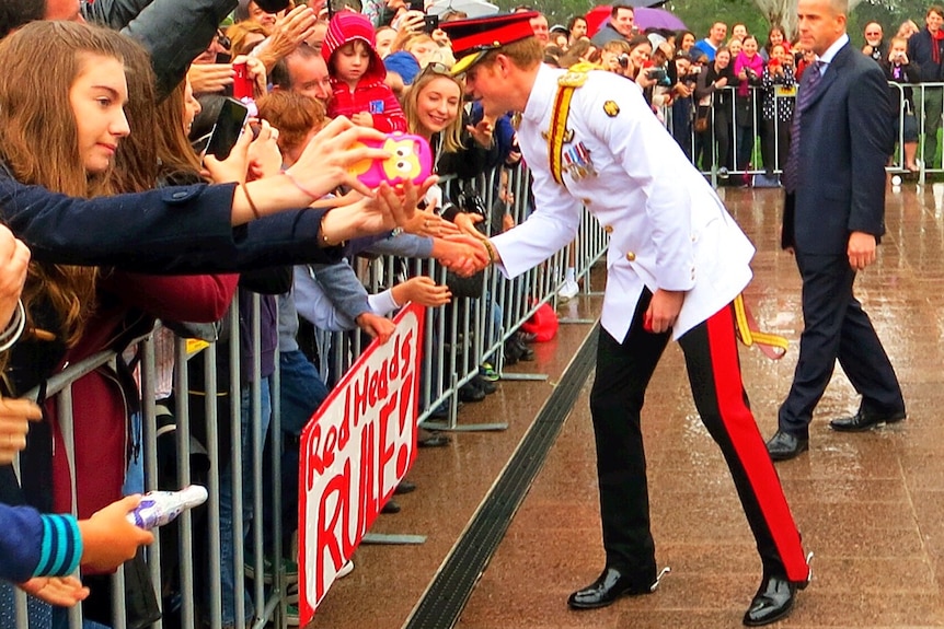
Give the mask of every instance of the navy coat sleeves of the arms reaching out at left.
[[26, 186], [0, 168], [0, 218], [33, 259], [146, 273], [217, 273], [341, 259], [316, 246], [326, 210], [292, 210], [233, 228], [235, 184], [82, 199]]

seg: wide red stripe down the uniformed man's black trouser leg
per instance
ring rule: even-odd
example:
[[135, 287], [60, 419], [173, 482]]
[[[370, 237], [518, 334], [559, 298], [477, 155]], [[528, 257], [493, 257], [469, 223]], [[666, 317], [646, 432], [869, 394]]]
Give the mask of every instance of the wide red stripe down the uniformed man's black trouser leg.
[[722, 421], [757, 496], [757, 502], [786, 570], [786, 578], [791, 581], [806, 581], [809, 567], [803, 554], [799, 532], [790, 513], [780, 478], [767, 453], [753, 413], [745, 401], [737, 340], [732, 331], [734, 318], [730, 307], [719, 310], [705, 323]]

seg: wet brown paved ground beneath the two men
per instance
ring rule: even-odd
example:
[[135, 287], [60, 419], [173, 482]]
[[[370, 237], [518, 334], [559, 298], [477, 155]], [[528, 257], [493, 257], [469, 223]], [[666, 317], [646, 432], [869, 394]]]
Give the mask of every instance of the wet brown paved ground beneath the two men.
[[[722, 194], [758, 247], [748, 302], [762, 328], [791, 340], [779, 362], [741, 348], [751, 407], [769, 436], [797, 356], [799, 279], [793, 258], [778, 249], [781, 193], [726, 188]], [[815, 558], [813, 583], [776, 626], [944, 627], [944, 423], [939, 420], [944, 185], [889, 189], [886, 222], [879, 259], [860, 275], [856, 293], [901, 381], [908, 419], [863, 434], [830, 431], [829, 419], [857, 406], [837, 368], [810, 427], [810, 451], [778, 464], [804, 546]], [[602, 273], [595, 275], [592, 289], [601, 288]], [[584, 294], [559, 314], [594, 317], [599, 301]], [[361, 546], [356, 570], [335, 583], [312, 629], [404, 625], [590, 328], [562, 325], [556, 339], [534, 346], [534, 362], [509, 368], [548, 374], [546, 381], [503, 381], [497, 394], [460, 411], [460, 423], [503, 420], [508, 430], [456, 433], [449, 446], [421, 451], [410, 474], [418, 490], [398, 497], [403, 511], [381, 516], [375, 532], [423, 534], [426, 543]], [[656, 371], [643, 411], [656, 555], [672, 571], [651, 596], [594, 611], [567, 609], [567, 595], [592, 581], [603, 562], [589, 383], [458, 627], [740, 626], [760, 566], [727, 467], [695, 413], [675, 345]]]

